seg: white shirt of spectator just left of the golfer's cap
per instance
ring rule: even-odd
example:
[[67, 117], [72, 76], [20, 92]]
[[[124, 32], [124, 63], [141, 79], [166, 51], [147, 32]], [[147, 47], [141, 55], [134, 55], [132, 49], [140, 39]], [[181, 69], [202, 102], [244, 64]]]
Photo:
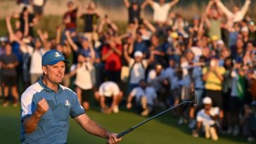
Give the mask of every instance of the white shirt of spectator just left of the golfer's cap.
[[44, 55], [44, 48], [35, 50], [31, 55], [30, 74], [42, 74], [41, 57]]

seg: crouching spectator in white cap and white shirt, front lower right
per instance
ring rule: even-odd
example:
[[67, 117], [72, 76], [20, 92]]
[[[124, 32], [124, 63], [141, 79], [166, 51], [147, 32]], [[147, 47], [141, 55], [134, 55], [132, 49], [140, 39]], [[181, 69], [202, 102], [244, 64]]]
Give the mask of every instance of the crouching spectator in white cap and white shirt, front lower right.
[[205, 138], [218, 140], [215, 129], [215, 121], [219, 118], [219, 107], [212, 107], [212, 99], [210, 97], [203, 98], [204, 109], [196, 114], [196, 130], [193, 130], [193, 136], [198, 137], [198, 132], [202, 126], [205, 130]]

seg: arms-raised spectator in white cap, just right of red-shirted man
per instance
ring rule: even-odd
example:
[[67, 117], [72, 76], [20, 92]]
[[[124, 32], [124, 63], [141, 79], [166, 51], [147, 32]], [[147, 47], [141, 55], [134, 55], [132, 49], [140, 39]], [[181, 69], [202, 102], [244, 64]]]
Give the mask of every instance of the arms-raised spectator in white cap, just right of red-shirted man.
[[124, 46], [124, 58], [129, 65], [129, 88], [128, 93], [136, 86], [139, 86], [139, 81], [146, 78], [146, 68], [148, 64], [154, 60], [154, 55], [151, 53], [150, 58], [143, 59], [141, 51], [135, 51], [134, 58], [130, 57], [127, 51], [127, 46]]

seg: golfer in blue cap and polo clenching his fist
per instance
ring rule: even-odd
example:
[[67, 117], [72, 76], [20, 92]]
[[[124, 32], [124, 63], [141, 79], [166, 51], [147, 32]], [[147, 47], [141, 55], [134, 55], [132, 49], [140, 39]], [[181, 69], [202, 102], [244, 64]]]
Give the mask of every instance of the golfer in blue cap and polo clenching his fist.
[[67, 143], [69, 116], [88, 133], [118, 143], [116, 133], [110, 133], [91, 120], [79, 104], [77, 95], [60, 85], [64, 77], [65, 60], [56, 50], [42, 57], [43, 77], [21, 97], [21, 143]]

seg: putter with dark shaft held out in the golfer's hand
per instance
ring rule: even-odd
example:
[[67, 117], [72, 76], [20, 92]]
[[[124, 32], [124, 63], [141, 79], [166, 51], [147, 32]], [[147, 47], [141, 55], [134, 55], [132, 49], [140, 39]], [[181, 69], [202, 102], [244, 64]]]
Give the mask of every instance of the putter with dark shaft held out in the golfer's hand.
[[191, 98], [192, 100], [191, 101], [184, 101], [182, 103], [179, 103], [179, 105], [175, 105], [174, 107], [170, 107], [168, 110], [165, 110], [163, 112], [160, 112], [159, 114], [155, 114], [155, 116], [149, 118], [149, 119], [146, 119], [145, 121], [141, 122], [140, 124], [137, 124], [135, 126], [132, 126], [131, 128], [125, 130], [125, 131], [122, 131], [121, 133], [118, 133], [117, 134], [117, 138], [121, 138], [122, 136], [126, 135], [127, 133], [130, 133], [131, 131], [133, 131], [134, 129], [136, 129], [137, 127], [141, 126], [142, 124], [145, 124], [146, 122], [150, 121], [151, 119], [154, 119], [155, 117], [158, 117], [162, 114], [164, 114], [165, 112], [168, 112], [169, 110], [172, 110], [174, 109], [175, 107], [179, 107], [180, 105], [183, 105], [184, 103], [192, 103], [193, 105], [196, 106], [197, 104], [197, 96], [196, 96], [196, 91], [191, 91]]

